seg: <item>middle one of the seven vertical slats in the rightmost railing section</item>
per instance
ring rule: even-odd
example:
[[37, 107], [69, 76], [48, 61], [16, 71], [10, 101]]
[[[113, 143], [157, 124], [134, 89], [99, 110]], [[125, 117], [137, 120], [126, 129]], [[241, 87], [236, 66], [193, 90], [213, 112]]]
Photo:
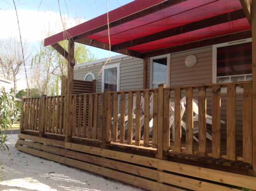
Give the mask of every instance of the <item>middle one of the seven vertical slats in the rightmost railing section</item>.
[[206, 155], [206, 88], [200, 87], [198, 91], [198, 151]]

